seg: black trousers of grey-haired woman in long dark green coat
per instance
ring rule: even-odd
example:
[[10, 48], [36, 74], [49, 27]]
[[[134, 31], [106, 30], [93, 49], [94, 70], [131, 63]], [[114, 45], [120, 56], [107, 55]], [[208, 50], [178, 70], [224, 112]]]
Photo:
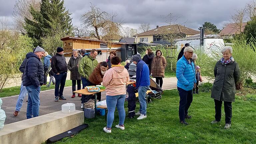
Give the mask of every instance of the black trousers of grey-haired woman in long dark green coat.
[[[221, 119], [221, 106], [222, 101], [218, 101], [214, 99], [215, 103], [215, 120], [220, 121]], [[224, 101], [224, 111], [225, 111], [225, 122], [226, 124], [231, 124], [231, 118], [232, 118], [232, 102], [226, 102]]]

